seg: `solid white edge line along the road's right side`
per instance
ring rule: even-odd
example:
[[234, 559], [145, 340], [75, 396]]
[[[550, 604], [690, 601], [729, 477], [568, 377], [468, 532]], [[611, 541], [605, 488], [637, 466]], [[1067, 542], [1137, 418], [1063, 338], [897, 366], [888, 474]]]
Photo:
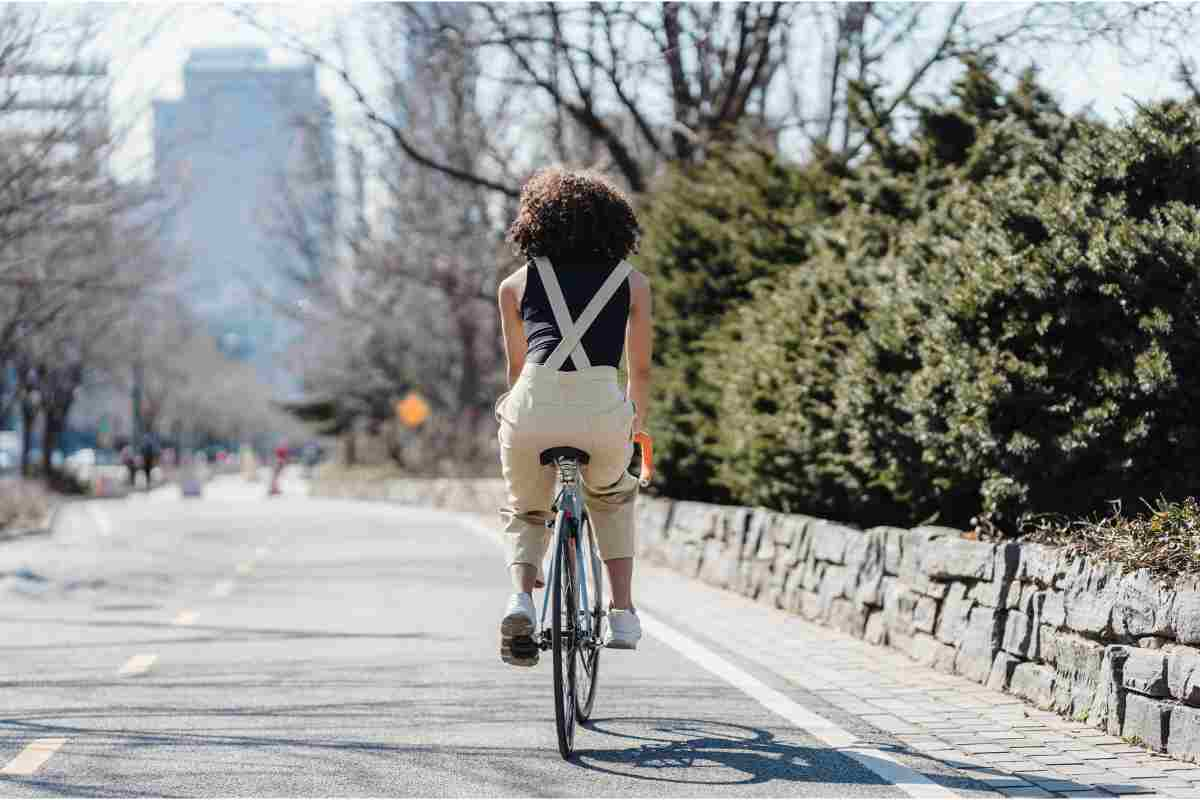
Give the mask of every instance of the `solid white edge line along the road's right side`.
[[[456, 517], [473, 533], [484, 536], [496, 545], [503, 545], [498, 530], [482, 524], [469, 515], [456, 515]], [[750, 673], [716, 655], [695, 639], [684, 636], [666, 622], [646, 614], [642, 609], [638, 609], [637, 615], [642, 621], [642, 626], [650, 636], [677, 650], [680, 655], [696, 662], [718, 678], [732, 684], [736, 688], [757, 700], [767, 710], [778, 714], [798, 728], [803, 728], [812, 734], [812, 736], [823, 741], [830, 748], [858, 762], [910, 798], [959, 796], [958, 793], [930, 781], [920, 772], [898, 760], [890, 753], [860, 742], [858, 736], [845, 728], [839, 727], [820, 714], [810, 711], [782, 692], [767, 686]]]

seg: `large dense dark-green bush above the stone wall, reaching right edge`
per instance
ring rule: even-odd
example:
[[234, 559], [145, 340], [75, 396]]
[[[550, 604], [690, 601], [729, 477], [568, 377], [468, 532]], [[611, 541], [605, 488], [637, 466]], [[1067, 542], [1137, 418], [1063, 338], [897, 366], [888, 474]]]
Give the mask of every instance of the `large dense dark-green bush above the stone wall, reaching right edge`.
[[[683, 303], [655, 281], [662, 325], [686, 331], [660, 350], [664, 395], [689, 410], [656, 413], [664, 491], [700, 494], [702, 463], [721, 499], [864, 524], [986, 511], [1010, 529], [1025, 511], [1196, 494], [1198, 166], [1194, 107], [1108, 130], [970, 65], [907, 140], [826, 173], [826, 201], [798, 193], [803, 234], [776, 236], [803, 246], [786, 258], [695, 283]], [[708, 178], [714, 203], [736, 182]], [[689, 276], [713, 252], [696, 241], [746, 263], [745, 231], [706, 216]]]

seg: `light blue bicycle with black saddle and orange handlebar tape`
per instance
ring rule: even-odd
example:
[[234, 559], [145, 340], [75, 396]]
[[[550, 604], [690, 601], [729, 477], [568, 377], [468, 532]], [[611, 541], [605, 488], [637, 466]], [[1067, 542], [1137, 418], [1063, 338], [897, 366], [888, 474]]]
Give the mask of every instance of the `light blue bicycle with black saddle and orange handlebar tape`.
[[[644, 433], [634, 439], [642, 449], [640, 482], [644, 487], [654, 469], [652, 440]], [[546, 523], [554, 530], [554, 545], [534, 645], [554, 654], [558, 752], [570, 759], [575, 752], [575, 724], [592, 716], [600, 650], [606, 644], [604, 566], [577, 481], [580, 468], [588, 463], [588, 453], [575, 447], [551, 447], [541, 453], [541, 463], [558, 468], [559, 491], [551, 506], [554, 519]], [[550, 627], [546, 626], [547, 608], [551, 610]]]

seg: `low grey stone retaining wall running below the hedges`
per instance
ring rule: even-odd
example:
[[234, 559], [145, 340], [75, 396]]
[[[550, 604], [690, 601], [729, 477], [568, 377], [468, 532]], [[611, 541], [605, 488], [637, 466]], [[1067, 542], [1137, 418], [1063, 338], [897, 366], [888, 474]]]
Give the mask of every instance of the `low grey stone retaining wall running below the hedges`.
[[[494, 511], [500, 481], [320, 482], [355, 497]], [[1200, 760], [1200, 582], [949, 528], [872, 528], [638, 500], [638, 555], [1176, 758]]]

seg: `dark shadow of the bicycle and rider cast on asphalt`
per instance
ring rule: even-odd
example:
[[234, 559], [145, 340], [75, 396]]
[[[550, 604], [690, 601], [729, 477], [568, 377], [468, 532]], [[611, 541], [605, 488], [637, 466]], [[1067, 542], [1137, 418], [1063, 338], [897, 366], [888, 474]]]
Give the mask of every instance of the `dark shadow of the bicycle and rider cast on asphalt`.
[[[797, 745], [762, 728], [697, 718], [614, 717], [583, 726], [575, 756], [586, 769], [667, 783], [746, 786], [769, 781], [890, 786], [828, 747]], [[592, 744], [611, 736], [611, 748]], [[740, 777], [731, 777], [739, 774]]]

